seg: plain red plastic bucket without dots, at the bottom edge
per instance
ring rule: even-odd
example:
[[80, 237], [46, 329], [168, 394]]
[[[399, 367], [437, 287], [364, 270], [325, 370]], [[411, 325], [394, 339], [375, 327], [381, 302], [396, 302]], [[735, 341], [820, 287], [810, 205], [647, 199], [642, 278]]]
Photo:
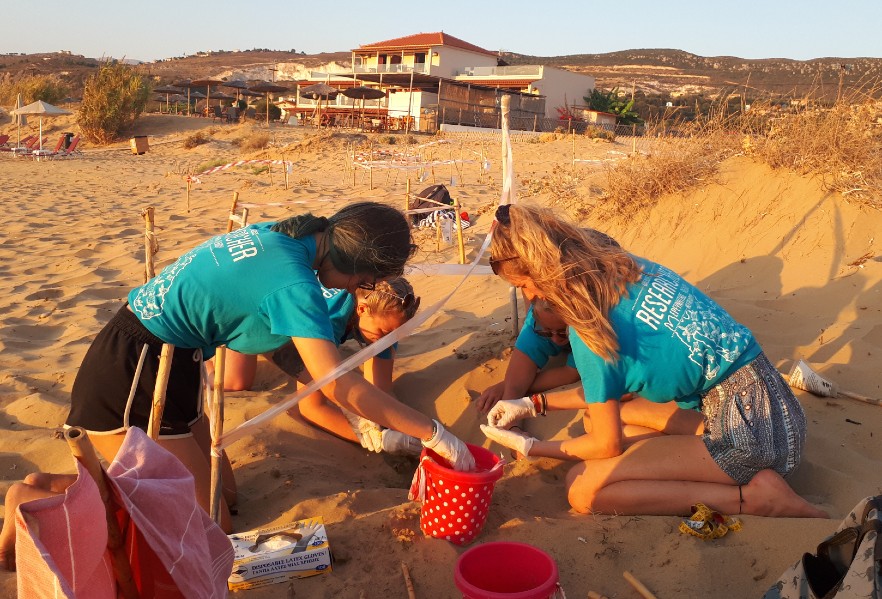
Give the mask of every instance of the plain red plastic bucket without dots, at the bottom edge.
[[558, 589], [557, 564], [526, 543], [484, 543], [465, 551], [453, 573], [464, 599], [549, 599]]

